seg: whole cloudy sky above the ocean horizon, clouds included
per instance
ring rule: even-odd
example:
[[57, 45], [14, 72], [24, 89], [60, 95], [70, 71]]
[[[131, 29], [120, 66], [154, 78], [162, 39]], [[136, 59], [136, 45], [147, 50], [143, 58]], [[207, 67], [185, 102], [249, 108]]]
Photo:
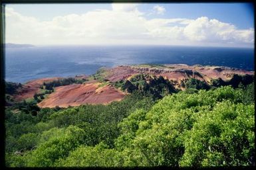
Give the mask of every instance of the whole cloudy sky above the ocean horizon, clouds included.
[[5, 5], [5, 42], [254, 47], [248, 3]]

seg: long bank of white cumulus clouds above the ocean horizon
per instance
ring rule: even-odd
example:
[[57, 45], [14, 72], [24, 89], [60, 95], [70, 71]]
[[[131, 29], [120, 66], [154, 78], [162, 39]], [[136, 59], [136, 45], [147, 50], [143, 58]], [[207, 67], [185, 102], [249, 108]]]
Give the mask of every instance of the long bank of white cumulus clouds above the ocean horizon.
[[136, 4], [113, 4], [112, 10], [39, 21], [5, 9], [6, 41], [26, 44], [171, 44], [253, 46], [254, 28], [197, 19], [146, 19]]

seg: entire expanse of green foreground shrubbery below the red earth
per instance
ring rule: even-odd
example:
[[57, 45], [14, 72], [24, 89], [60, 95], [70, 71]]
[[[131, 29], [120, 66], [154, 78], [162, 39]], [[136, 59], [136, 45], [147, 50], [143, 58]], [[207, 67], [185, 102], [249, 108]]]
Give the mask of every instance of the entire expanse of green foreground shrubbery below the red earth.
[[[160, 101], [134, 93], [110, 105], [6, 111], [11, 167], [252, 165], [254, 86], [182, 91]], [[21, 151], [15, 153], [15, 151]]]

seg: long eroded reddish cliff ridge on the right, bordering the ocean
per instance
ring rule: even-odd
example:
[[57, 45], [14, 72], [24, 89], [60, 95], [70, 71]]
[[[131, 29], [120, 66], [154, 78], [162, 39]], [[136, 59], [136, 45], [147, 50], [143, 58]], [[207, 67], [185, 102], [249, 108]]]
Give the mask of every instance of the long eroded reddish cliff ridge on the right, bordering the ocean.
[[162, 76], [172, 81], [184, 81], [195, 78], [200, 81], [210, 83], [212, 79], [221, 78], [229, 81], [234, 75], [254, 75], [254, 71], [233, 69], [230, 67], [166, 64], [166, 65], [120, 65], [118, 67], [105, 69], [105, 78], [110, 81], [120, 81], [128, 79], [134, 74], [152, 74]]

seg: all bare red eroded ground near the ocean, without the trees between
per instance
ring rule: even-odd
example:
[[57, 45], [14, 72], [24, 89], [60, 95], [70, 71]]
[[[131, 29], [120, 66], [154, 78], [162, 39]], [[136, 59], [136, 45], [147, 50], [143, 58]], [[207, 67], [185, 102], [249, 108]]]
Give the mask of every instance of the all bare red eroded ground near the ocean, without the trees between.
[[[164, 77], [172, 83], [176, 89], [184, 89], [184, 82], [189, 79], [197, 79], [206, 85], [216, 87], [221, 85], [233, 85], [237, 87], [240, 82], [247, 84], [254, 80], [254, 71], [233, 69], [230, 67], [166, 64], [166, 65], [120, 65], [112, 68], [101, 69], [97, 76], [81, 75], [76, 79], [88, 78], [91, 80], [82, 84], [71, 84], [56, 87], [55, 91], [43, 99], [38, 105], [41, 107], [78, 106], [83, 104], [107, 104], [112, 101], [120, 101], [126, 93], [116, 89], [112, 84], [119, 81], [130, 80], [134, 75], [153, 75]], [[148, 76], [150, 77], [150, 76]], [[92, 80], [92, 78], [94, 80]], [[13, 95], [16, 101], [33, 98], [35, 93], [41, 91], [43, 83], [64, 79], [61, 77], [37, 79], [25, 83]], [[102, 82], [103, 81], [103, 82]], [[126, 81], [126, 86], [127, 86]]]

